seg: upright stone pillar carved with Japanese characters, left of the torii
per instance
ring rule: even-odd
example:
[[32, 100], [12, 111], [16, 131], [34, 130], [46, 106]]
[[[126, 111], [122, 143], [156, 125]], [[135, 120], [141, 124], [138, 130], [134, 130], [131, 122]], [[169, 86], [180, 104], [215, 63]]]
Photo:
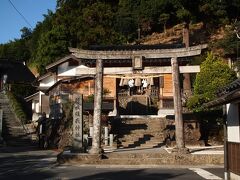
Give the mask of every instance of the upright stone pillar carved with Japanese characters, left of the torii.
[[83, 95], [73, 105], [73, 151], [84, 152], [83, 147]]

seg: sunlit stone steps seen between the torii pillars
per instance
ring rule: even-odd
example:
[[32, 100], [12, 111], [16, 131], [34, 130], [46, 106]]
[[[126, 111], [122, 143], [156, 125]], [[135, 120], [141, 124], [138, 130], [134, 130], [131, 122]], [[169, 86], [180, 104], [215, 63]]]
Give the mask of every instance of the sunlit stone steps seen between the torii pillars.
[[118, 127], [118, 147], [161, 147], [165, 141], [164, 129], [164, 118], [123, 118]]

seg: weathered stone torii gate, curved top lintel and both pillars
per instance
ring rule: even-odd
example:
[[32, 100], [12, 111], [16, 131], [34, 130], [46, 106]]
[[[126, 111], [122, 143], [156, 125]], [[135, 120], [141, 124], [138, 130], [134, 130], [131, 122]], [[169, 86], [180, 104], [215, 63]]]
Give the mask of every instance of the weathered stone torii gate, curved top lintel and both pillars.
[[[105, 72], [103, 61], [105, 60], [121, 60], [121, 59], [135, 59], [151, 58], [170, 58], [172, 66], [172, 81], [173, 81], [173, 97], [174, 97], [174, 111], [175, 111], [175, 126], [176, 126], [176, 142], [178, 149], [184, 149], [184, 134], [183, 134], [183, 118], [182, 118], [182, 104], [179, 86], [179, 64], [178, 58], [197, 56], [201, 54], [201, 50], [205, 49], [207, 45], [198, 45], [188, 48], [175, 49], [134, 49], [134, 50], [82, 50], [76, 48], [69, 48], [70, 52], [80, 59], [96, 60], [96, 83], [95, 83], [95, 97], [94, 97], [94, 117], [93, 117], [93, 141], [91, 154], [101, 153], [101, 108], [102, 108], [102, 92], [103, 92], [103, 74]], [[119, 48], [118, 48], [119, 49]], [[111, 72], [114, 73], [114, 72]]]

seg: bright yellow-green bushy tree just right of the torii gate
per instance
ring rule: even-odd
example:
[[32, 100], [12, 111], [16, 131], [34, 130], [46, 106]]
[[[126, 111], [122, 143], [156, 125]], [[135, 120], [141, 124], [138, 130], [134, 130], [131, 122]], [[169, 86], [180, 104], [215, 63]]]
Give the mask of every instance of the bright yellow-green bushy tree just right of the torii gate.
[[236, 73], [223, 60], [208, 53], [206, 60], [200, 66], [200, 72], [194, 83], [194, 96], [187, 106], [194, 111], [201, 111], [201, 105], [216, 97], [216, 90], [236, 79]]

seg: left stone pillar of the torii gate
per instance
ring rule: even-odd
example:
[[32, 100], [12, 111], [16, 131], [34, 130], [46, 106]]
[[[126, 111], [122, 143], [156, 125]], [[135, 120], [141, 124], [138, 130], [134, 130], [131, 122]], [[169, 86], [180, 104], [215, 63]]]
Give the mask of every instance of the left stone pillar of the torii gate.
[[101, 116], [102, 116], [102, 94], [103, 94], [103, 62], [96, 60], [94, 114], [93, 114], [93, 139], [90, 154], [101, 153]]

